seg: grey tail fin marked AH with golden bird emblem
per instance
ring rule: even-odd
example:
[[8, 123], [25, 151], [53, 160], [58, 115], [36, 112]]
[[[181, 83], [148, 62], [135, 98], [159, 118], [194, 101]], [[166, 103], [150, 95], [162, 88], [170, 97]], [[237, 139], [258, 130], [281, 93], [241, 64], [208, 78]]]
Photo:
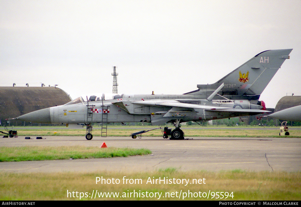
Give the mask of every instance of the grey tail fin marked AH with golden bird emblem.
[[[293, 49], [267, 50], [257, 54], [243, 65], [220, 79], [214, 84], [197, 85], [198, 90], [186, 94], [206, 94], [209, 97], [213, 91], [229, 99], [258, 100], [260, 94], [277, 73], [282, 63], [289, 59]], [[224, 86], [222, 87], [221, 85]]]

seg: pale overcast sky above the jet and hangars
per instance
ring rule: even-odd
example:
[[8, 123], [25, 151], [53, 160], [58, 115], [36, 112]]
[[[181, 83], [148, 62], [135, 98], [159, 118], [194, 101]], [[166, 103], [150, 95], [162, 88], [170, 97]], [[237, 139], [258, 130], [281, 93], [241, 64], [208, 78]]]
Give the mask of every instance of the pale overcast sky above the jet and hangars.
[[2, 1], [0, 86], [55, 84], [75, 99], [183, 94], [256, 54], [293, 48], [260, 100], [301, 95], [301, 1]]

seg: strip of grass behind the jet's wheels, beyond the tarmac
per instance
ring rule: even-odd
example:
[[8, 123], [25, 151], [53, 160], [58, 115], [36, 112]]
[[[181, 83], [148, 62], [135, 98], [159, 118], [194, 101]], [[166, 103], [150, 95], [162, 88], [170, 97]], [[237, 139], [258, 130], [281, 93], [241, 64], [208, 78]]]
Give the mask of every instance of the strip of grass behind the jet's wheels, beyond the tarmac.
[[[169, 126], [170, 128], [171, 126]], [[70, 129], [63, 126], [17, 127], [19, 136], [85, 136], [85, 128]], [[108, 126], [107, 136], [127, 137], [131, 133], [157, 128], [157, 126]], [[279, 127], [238, 126], [218, 127], [198, 125], [182, 126], [185, 137], [279, 137]], [[289, 127], [290, 135], [301, 137], [300, 127]], [[93, 126], [93, 136], [101, 136], [101, 127]], [[142, 134], [144, 137], [160, 137], [160, 129]]]

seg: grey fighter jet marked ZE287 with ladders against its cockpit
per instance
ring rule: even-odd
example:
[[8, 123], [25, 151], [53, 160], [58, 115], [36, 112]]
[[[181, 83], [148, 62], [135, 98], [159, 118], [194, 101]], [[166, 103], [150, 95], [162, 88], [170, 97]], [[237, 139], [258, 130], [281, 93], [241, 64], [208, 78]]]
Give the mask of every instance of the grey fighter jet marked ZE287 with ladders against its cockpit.
[[[180, 95], [115, 94], [111, 97], [78, 97], [62, 106], [50, 107], [17, 117], [26, 122], [78, 124], [87, 126], [92, 139], [92, 123], [171, 122], [170, 139], [184, 139], [181, 122], [208, 121], [267, 112], [260, 94], [292, 49], [267, 50], [213, 84], [197, 85], [197, 90]], [[88, 99], [88, 98], [87, 98]], [[105, 128], [105, 127], [103, 127]], [[168, 138], [168, 136], [163, 136]], [[134, 137], [133, 137], [134, 138]]]

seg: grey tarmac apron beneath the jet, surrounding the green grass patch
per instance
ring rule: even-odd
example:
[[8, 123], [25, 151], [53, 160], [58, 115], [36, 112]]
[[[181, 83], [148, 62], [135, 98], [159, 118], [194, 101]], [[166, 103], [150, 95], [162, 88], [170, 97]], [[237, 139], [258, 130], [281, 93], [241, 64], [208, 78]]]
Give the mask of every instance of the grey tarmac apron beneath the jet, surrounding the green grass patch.
[[45, 136], [37, 140], [0, 138], [0, 145], [20, 146], [98, 146], [146, 148], [152, 155], [100, 158], [1, 162], [5, 172], [95, 172], [95, 171], [156, 171], [177, 168], [191, 170], [301, 171], [301, 138], [233, 138], [185, 137], [169, 140], [162, 137], [85, 137]]

